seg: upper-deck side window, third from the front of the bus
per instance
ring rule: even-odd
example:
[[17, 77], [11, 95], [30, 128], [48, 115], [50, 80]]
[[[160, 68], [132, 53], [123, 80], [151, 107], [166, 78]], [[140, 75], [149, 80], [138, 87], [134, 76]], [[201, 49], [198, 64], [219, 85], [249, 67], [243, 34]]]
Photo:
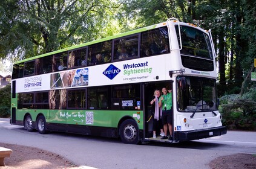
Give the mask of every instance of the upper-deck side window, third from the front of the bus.
[[100, 65], [111, 62], [112, 40], [89, 46], [88, 65]]

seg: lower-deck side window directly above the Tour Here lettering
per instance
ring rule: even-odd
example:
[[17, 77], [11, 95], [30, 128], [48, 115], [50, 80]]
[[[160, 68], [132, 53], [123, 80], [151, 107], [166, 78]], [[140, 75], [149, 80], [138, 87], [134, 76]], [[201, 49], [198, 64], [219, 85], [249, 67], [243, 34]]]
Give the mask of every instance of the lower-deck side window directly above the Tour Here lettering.
[[68, 108], [85, 108], [85, 89], [68, 91]]

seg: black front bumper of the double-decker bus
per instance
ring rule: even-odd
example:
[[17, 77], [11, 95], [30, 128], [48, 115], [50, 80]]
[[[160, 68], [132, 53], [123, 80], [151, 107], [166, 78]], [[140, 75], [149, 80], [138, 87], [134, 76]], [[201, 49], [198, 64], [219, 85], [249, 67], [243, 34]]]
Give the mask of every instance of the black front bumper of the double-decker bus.
[[225, 135], [226, 133], [227, 133], [226, 127], [222, 126], [222, 127], [213, 127], [209, 129], [202, 129], [202, 130], [176, 132], [176, 138], [179, 141], [189, 141], [193, 139], [202, 139], [202, 138], [209, 138], [213, 136]]

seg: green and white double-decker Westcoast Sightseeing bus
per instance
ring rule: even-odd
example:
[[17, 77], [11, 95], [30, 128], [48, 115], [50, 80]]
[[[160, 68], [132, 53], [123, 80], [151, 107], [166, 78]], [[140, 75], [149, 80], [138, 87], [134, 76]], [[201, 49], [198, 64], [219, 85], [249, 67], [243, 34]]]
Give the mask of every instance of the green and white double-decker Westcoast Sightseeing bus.
[[[13, 65], [11, 124], [128, 144], [226, 134], [211, 31], [168, 21]], [[153, 137], [155, 89], [172, 89], [172, 139]]]

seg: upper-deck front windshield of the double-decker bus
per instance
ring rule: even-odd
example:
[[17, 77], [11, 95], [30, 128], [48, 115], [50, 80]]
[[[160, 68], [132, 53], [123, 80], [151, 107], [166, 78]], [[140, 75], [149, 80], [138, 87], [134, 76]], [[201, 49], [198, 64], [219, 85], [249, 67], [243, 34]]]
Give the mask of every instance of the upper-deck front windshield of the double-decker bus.
[[[178, 25], [176, 25], [175, 28], [178, 40], [180, 40]], [[187, 26], [180, 26], [180, 33], [182, 38], [181, 54], [199, 56], [211, 60], [213, 59], [211, 42], [206, 33]]]

